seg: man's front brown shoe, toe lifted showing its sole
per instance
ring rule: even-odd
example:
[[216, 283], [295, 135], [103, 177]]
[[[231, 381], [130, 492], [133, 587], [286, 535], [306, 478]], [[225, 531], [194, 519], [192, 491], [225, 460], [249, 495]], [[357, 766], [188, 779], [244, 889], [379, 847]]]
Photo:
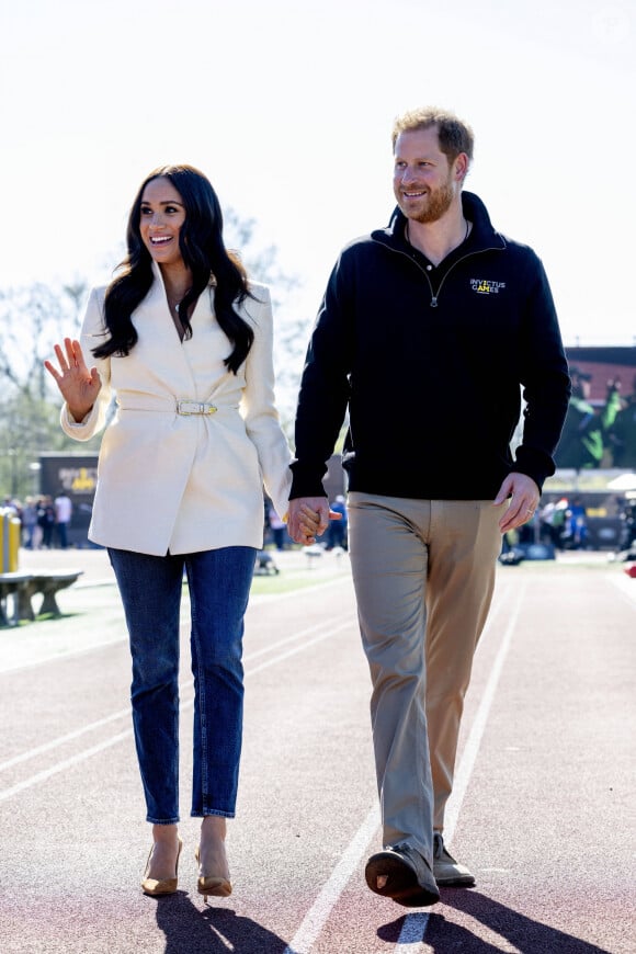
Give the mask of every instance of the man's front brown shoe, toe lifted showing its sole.
[[372, 855], [366, 862], [364, 876], [376, 895], [391, 898], [407, 908], [424, 908], [440, 900], [433, 872], [410, 844], [396, 844]]

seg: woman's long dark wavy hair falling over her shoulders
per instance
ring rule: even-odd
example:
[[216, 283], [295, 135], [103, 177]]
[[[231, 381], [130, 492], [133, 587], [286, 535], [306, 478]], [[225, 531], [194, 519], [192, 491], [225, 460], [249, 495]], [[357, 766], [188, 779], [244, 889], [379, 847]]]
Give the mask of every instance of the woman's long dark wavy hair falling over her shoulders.
[[185, 207], [179, 247], [184, 263], [192, 272], [192, 287], [179, 306], [184, 337], [192, 338], [189, 308], [214, 276], [216, 319], [234, 345], [225, 363], [236, 374], [254, 340], [253, 330], [234, 308], [236, 303], [240, 304], [250, 296], [248, 279], [239, 259], [224, 245], [223, 214], [216, 192], [203, 172], [192, 166], [162, 166], [141, 183], [128, 216], [128, 253], [118, 266], [117, 276], [106, 288], [104, 307], [110, 338], [94, 348], [93, 354], [95, 357], [109, 357], [112, 354], [125, 356], [137, 342], [132, 315], [152, 284], [152, 259], [139, 229], [141, 198], [148, 183], [159, 178], [170, 180]]

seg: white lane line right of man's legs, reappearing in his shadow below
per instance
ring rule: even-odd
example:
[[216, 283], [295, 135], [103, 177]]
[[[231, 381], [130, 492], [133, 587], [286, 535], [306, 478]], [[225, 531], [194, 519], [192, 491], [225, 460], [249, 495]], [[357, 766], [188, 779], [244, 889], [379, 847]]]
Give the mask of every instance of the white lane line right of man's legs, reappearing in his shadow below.
[[[527, 583], [522, 583], [516, 592], [516, 599], [514, 600], [510, 612], [508, 626], [506, 627], [503, 638], [501, 639], [499, 649], [497, 650], [497, 656], [495, 657], [492, 669], [490, 670], [490, 675], [475, 716], [475, 722], [470, 727], [470, 732], [466, 740], [464, 751], [462, 752], [462, 760], [457, 771], [455, 772], [453, 780], [453, 794], [448, 799], [448, 805], [444, 816], [444, 838], [448, 842], [452, 840], [455, 828], [457, 827], [462, 804], [468, 790], [468, 783], [470, 782], [473, 770], [475, 769], [475, 762], [477, 761], [477, 754], [488, 723], [488, 716], [495, 700], [495, 693], [497, 692], [497, 685], [503, 669], [503, 662], [508, 656], [508, 650], [512, 641], [512, 634], [516, 626], [516, 621], [519, 618], [521, 604], [525, 597], [526, 589]], [[397, 940], [400, 954], [416, 954], [416, 952], [420, 950], [420, 946], [424, 941], [428, 924], [428, 913], [420, 912], [418, 915], [406, 916], [400, 935]]]

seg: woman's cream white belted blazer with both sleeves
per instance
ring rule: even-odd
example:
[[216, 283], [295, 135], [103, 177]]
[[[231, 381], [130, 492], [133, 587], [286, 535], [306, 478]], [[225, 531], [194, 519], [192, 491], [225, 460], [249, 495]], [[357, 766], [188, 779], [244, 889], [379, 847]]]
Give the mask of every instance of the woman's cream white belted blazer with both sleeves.
[[[86, 441], [105, 427], [89, 538], [163, 556], [263, 545], [263, 485], [286, 514], [292, 454], [274, 406], [273, 318], [269, 289], [237, 308], [254, 342], [238, 371], [224, 365], [231, 345], [214, 316], [214, 286], [200, 296], [192, 338], [180, 341], [161, 272], [133, 315], [139, 334], [126, 357], [95, 360], [107, 337], [105, 288], [94, 288], [80, 343], [102, 389], [83, 421], [61, 409], [64, 431]], [[112, 398], [115, 411], [112, 413]], [[213, 405], [182, 414], [178, 401]]]

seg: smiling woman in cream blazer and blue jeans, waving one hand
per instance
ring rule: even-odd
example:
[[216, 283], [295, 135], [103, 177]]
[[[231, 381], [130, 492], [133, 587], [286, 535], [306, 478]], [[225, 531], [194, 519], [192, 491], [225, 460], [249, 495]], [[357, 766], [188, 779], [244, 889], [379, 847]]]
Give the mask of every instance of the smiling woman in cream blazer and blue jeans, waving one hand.
[[[179, 610], [191, 601], [193, 817], [198, 891], [231, 891], [226, 819], [235, 815], [242, 729], [241, 639], [263, 481], [287, 511], [289, 447], [274, 407], [272, 310], [223, 241], [208, 180], [155, 170], [127, 227], [127, 257], [91, 293], [80, 341], [45, 362], [64, 431], [105, 427], [90, 538], [107, 547], [133, 658], [133, 724], [154, 843], [141, 887], [177, 890]], [[87, 364], [89, 357], [94, 366]], [[111, 399], [115, 398], [114, 414]], [[314, 542], [307, 511], [306, 543]]]

